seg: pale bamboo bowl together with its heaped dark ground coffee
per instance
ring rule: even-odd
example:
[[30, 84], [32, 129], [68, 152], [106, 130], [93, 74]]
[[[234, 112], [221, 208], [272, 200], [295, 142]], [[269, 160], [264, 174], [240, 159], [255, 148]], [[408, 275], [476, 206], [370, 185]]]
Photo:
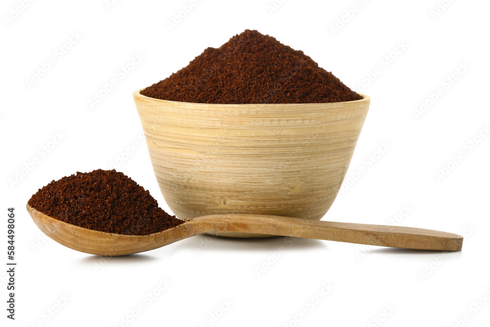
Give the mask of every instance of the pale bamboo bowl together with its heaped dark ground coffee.
[[321, 219], [370, 102], [302, 51], [251, 30], [133, 98], [162, 194], [182, 219]]

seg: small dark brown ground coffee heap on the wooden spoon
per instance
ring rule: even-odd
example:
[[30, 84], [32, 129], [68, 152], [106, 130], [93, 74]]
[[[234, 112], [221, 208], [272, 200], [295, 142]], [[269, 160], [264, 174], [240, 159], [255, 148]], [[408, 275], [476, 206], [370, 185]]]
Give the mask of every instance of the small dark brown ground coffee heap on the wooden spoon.
[[125, 235], [158, 233], [184, 222], [159, 208], [149, 191], [116, 170], [77, 172], [52, 181], [28, 205], [72, 225]]

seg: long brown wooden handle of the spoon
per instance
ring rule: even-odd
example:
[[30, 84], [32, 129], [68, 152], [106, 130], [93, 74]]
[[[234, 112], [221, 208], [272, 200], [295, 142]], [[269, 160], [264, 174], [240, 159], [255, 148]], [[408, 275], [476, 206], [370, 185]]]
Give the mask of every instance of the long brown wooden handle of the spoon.
[[412, 227], [337, 223], [264, 214], [216, 214], [187, 223], [191, 222], [198, 224], [201, 233], [257, 233], [435, 251], [459, 251], [463, 246], [461, 235]]

